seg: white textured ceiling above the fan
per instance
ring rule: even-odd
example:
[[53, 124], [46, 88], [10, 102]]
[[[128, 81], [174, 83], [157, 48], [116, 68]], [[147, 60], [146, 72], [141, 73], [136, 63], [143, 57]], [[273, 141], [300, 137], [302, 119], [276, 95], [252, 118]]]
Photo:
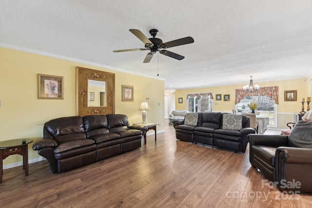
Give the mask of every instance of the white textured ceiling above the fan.
[[[165, 89], [303, 78], [312, 73], [312, 0], [1, 0], [0, 46], [13, 45], [165, 80]], [[147, 51], [129, 29], [183, 60]]]

